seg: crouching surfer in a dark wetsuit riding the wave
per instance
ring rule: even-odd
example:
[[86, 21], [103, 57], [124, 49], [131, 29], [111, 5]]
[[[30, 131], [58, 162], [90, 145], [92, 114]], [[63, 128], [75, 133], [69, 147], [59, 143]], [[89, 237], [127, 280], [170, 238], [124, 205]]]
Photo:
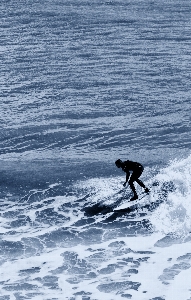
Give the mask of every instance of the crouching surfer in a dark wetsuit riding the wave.
[[[130, 161], [130, 160], [122, 161], [121, 159], [118, 159], [118, 160], [116, 160], [115, 164], [118, 168], [121, 168], [126, 173], [126, 181], [123, 184], [123, 186], [126, 186], [128, 180], [129, 180], [129, 182], [128, 182], [129, 186], [134, 193], [134, 196], [130, 199], [130, 201], [138, 199], [138, 195], [137, 195], [135, 186], [133, 184], [134, 181], [136, 181], [142, 188], [145, 189], [145, 193], [149, 193], [149, 189], [139, 179], [139, 177], [141, 176], [141, 174], [144, 170], [143, 166], [140, 163]], [[130, 171], [132, 172], [132, 174], [129, 179]]]

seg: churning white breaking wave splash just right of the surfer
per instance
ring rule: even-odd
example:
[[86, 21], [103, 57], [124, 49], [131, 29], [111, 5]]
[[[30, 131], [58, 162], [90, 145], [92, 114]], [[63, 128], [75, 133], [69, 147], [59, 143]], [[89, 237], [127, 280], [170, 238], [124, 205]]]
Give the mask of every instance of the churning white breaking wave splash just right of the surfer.
[[171, 191], [150, 219], [156, 230], [164, 234], [186, 236], [191, 231], [191, 156], [172, 161], [156, 176], [161, 182], [173, 182]]

